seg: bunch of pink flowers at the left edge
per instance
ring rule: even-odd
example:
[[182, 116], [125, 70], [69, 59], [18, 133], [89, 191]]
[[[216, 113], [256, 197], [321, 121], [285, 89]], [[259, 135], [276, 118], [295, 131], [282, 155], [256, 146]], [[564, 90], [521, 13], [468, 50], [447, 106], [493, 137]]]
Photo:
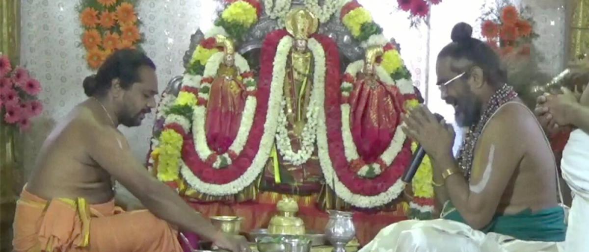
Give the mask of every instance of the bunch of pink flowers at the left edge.
[[37, 95], [41, 84], [29, 77], [27, 69], [12, 69], [8, 57], [0, 55], [0, 115], [5, 124], [18, 127], [21, 131], [31, 127], [31, 118], [43, 111]]

